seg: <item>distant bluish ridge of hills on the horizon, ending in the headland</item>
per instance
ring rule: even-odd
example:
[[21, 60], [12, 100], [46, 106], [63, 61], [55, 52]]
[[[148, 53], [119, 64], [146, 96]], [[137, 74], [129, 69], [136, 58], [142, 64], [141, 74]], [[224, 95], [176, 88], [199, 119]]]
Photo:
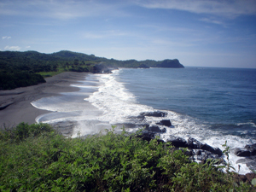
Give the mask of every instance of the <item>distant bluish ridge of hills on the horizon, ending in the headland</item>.
[[[175, 67], [183, 68], [183, 65], [179, 63], [177, 59], [174, 60], [164, 60], [164, 61], [154, 61], [154, 60], [114, 60], [107, 59], [104, 57], [98, 57], [96, 55], [86, 55], [83, 53], [77, 53], [69, 50], [61, 50], [52, 54], [38, 53], [37, 51], [0, 51], [0, 67], [3, 64], [10, 64], [11, 66], [33, 66], [38, 64], [49, 65], [59, 65], [61, 62], [86, 62], [91, 61], [91, 63], [104, 63], [109, 67]], [[3, 67], [3, 66], [2, 66]], [[0, 68], [1, 70], [1, 68]]]

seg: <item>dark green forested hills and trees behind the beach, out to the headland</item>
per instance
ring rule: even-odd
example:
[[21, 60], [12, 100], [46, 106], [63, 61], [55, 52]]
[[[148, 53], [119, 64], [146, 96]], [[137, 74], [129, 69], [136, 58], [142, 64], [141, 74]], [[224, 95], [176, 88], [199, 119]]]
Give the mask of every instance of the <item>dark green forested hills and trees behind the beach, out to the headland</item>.
[[177, 59], [119, 61], [68, 50], [52, 54], [37, 51], [0, 51], [0, 90], [44, 83], [44, 78], [67, 71], [90, 73], [100, 63], [107, 67], [183, 67]]

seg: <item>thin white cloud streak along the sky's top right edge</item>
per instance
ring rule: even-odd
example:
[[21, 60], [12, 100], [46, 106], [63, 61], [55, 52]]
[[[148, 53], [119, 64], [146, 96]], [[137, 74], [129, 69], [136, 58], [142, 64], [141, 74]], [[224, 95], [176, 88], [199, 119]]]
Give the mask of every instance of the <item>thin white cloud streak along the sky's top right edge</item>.
[[230, 18], [238, 15], [256, 15], [255, 0], [138, 0], [137, 3], [148, 9], [178, 9]]

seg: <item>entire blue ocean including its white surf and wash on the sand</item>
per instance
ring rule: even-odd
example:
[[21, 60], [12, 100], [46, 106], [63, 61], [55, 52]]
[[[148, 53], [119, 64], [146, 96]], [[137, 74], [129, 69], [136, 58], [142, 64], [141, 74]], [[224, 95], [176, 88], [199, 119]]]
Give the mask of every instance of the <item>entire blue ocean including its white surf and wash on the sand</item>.
[[[146, 120], [150, 125], [171, 120], [172, 126], [160, 134], [163, 140], [170, 135], [194, 137], [221, 149], [225, 141], [231, 149], [256, 143], [256, 69], [120, 68], [111, 74], [88, 74], [71, 86], [80, 90], [32, 102], [49, 110], [38, 116], [38, 122], [73, 122], [73, 137], [77, 137], [111, 125], [135, 131], [129, 127], [135, 123], [131, 117], [162, 111], [167, 117]], [[235, 168], [239, 159], [230, 154]], [[240, 166], [240, 173], [250, 172], [245, 164]]]

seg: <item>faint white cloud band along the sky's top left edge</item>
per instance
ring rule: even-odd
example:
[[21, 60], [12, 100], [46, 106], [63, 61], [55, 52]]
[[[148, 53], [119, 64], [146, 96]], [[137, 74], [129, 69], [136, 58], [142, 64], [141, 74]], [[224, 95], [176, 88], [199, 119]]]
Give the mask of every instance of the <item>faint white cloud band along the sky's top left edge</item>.
[[101, 0], [70, 1], [70, 0], [3, 0], [0, 3], [0, 15], [26, 15], [49, 17], [54, 19], [76, 19], [99, 15], [125, 15], [119, 11], [125, 2], [107, 2]]

